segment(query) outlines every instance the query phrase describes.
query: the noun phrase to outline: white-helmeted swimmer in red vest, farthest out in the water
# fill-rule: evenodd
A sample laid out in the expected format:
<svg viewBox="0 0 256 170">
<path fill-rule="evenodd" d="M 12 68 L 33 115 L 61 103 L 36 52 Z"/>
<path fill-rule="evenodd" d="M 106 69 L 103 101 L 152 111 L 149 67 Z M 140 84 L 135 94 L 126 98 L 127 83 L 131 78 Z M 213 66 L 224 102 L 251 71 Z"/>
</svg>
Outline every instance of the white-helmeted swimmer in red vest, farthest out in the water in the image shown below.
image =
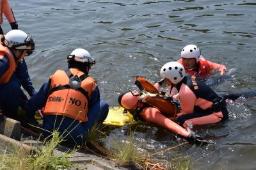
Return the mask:
<svg viewBox="0 0 256 170">
<path fill-rule="evenodd" d="M 220 75 L 225 75 L 227 68 L 225 65 L 213 63 L 206 60 L 202 55 L 200 49 L 193 44 L 186 45 L 180 52 L 180 59 L 177 61 L 184 66 L 185 73 L 195 75 L 203 81 L 209 78 L 212 70 L 220 71 Z M 163 83 L 163 79 L 155 84 L 159 88 Z"/>
</svg>

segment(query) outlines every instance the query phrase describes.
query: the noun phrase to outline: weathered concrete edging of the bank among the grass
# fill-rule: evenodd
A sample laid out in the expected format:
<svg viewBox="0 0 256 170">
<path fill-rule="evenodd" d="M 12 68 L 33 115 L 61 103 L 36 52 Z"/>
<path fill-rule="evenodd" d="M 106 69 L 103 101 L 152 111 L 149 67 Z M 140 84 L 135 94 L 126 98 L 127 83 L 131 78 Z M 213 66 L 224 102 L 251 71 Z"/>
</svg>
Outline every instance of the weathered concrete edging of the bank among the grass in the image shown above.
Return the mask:
<svg viewBox="0 0 256 170">
<path fill-rule="evenodd" d="M 22 134 L 20 127 L 20 122 L 4 117 L 3 121 L 0 121 L 0 154 L 3 154 L 6 151 L 6 148 L 12 149 L 17 147 L 22 147 L 24 151 L 32 151 L 33 144 L 36 141 L 28 135 Z M 54 151 L 54 154 L 61 155 L 63 152 L 72 150 L 67 146 L 61 146 L 58 150 Z M 70 161 L 74 164 L 72 169 L 113 169 L 120 170 L 125 169 L 123 167 L 115 166 L 115 162 L 111 162 L 101 157 L 97 157 L 88 153 L 85 150 L 78 150 L 72 155 Z"/>
</svg>

